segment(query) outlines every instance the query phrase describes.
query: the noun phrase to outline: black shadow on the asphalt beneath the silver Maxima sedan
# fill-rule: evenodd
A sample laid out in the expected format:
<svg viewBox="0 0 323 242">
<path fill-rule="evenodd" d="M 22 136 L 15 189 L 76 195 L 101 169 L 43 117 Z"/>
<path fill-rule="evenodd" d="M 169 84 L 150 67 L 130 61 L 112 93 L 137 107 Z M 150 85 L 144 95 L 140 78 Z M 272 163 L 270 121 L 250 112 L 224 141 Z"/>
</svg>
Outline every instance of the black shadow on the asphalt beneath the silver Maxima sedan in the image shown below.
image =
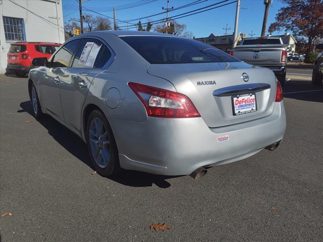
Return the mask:
<svg viewBox="0 0 323 242">
<path fill-rule="evenodd" d="M 20 103 L 20 107 L 22 110 L 18 110 L 17 112 L 27 112 L 33 116 L 30 101 Z M 60 145 L 62 145 L 72 155 L 94 170 L 87 151 L 87 146 L 80 137 L 78 137 L 68 128 L 61 125 L 57 120 L 49 115 L 43 115 L 37 121 Z M 155 184 L 159 188 L 169 188 L 171 187 L 171 184 L 168 183 L 166 179 L 175 177 L 177 176 L 163 176 L 139 171 L 122 170 L 118 176 L 109 177 L 109 179 L 130 187 L 151 187 L 153 184 Z"/>
</svg>

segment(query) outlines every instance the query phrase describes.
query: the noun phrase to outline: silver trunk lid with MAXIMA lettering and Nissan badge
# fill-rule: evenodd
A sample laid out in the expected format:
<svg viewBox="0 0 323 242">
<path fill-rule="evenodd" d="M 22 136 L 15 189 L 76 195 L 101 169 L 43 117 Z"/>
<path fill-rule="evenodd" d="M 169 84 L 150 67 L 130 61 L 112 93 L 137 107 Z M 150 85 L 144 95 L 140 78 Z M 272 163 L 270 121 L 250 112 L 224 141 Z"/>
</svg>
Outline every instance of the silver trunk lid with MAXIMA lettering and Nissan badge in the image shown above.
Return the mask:
<svg viewBox="0 0 323 242">
<path fill-rule="evenodd" d="M 150 65 L 147 72 L 170 81 L 188 96 L 210 128 L 248 122 L 269 115 L 274 108 L 276 78 L 265 68 L 242 62 L 163 64 Z M 237 97 L 255 98 L 257 110 L 235 115 Z"/>
</svg>

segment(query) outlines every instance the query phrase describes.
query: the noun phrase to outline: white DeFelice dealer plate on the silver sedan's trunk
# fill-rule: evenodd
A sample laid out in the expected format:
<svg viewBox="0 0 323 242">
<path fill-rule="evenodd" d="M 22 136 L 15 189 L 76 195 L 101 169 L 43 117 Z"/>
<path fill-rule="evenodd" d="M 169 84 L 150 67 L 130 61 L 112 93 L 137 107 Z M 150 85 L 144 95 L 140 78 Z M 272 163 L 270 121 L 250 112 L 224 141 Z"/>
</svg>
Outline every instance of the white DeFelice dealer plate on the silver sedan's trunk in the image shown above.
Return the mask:
<svg viewBox="0 0 323 242">
<path fill-rule="evenodd" d="M 247 93 L 232 96 L 233 115 L 241 115 L 257 111 L 256 94 Z"/>
</svg>

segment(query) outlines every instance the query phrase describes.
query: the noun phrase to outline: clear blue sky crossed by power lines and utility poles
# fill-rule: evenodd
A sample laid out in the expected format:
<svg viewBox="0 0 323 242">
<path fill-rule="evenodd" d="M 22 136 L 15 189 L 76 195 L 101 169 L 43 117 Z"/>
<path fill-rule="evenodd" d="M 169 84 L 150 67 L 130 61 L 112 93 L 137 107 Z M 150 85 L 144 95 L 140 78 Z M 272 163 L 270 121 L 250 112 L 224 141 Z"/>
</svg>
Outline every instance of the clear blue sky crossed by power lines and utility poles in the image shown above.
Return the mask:
<svg viewBox="0 0 323 242">
<path fill-rule="evenodd" d="M 180 6 L 193 3 L 196 0 L 170 0 L 170 7 L 178 8 Z M 158 1 L 148 1 L 150 3 L 144 4 L 142 6 L 138 6 L 135 8 L 128 9 L 120 9 L 118 10 L 118 6 L 127 5 L 127 4 L 135 4 L 135 3 L 144 3 L 139 0 L 129 1 L 129 0 L 88 0 L 82 3 L 83 6 L 83 14 L 90 13 L 96 15 L 95 13 L 91 13 L 86 11 L 85 9 L 91 9 L 95 12 L 113 17 L 113 11 L 110 8 L 116 7 L 116 18 L 119 20 L 130 20 L 141 18 L 149 15 L 153 15 L 156 13 L 161 13 L 162 7 L 167 6 L 166 0 L 158 0 Z M 146 0 L 147 2 L 147 0 Z M 202 2 L 202 1 L 201 1 Z M 182 14 L 185 12 L 189 12 L 195 9 L 199 9 L 211 4 L 216 4 L 221 2 L 220 0 L 208 0 L 202 3 L 196 4 L 194 6 L 190 6 L 187 8 L 183 8 L 180 10 L 176 10 L 169 13 L 169 17 L 174 15 Z M 226 3 L 233 2 L 230 0 Z M 283 7 L 284 4 L 279 0 L 274 0 L 273 4 L 270 7 L 270 12 L 268 16 L 267 28 L 272 23 L 275 22 L 275 16 L 278 13 L 278 10 Z M 214 6 L 216 7 L 216 6 Z M 119 7 L 120 8 L 120 7 Z M 177 21 L 181 24 L 186 24 L 187 30 L 193 33 L 193 36 L 198 37 L 206 37 L 210 33 L 214 35 L 223 35 L 225 30 L 223 28 L 231 27 L 231 30 L 228 30 L 228 33 L 232 33 L 234 29 L 235 22 L 235 13 L 236 13 L 236 3 L 233 3 L 228 6 L 224 6 L 218 9 L 213 9 L 210 11 L 206 11 L 200 14 L 192 15 L 189 17 L 178 19 Z M 238 32 L 250 34 L 251 31 L 255 33 L 255 37 L 260 36 L 262 20 L 264 14 L 264 4 L 263 0 L 241 0 L 241 9 L 240 9 L 240 18 L 239 18 L 239 26 Z M 70 18 L 79 18 L 78 11 L 78 1 L 77 0 L 63 0 L 63 15 L 64 22 L 68 22 Z M 166 18 L 166 14 L 158 15 L 154 17 L 148 18 L 148 20 L 159 20 L 162 18 Z M 141 20 L 141 22 L 146 22 L 147 19 Z M 113 21 L 112 21 L 113 22 Z M 138 21 L 134 21 L 131 23 L 137 23 Z M 126 26 L 126 23 L 118 23 L 119 26 Z M 283 34 L 284 32 L 281 32 Z M 279 32 L 275 32 L 274 34 L 279 34 Z M 248 36 L 250 37 L 250 36 Z"/>
</svg>

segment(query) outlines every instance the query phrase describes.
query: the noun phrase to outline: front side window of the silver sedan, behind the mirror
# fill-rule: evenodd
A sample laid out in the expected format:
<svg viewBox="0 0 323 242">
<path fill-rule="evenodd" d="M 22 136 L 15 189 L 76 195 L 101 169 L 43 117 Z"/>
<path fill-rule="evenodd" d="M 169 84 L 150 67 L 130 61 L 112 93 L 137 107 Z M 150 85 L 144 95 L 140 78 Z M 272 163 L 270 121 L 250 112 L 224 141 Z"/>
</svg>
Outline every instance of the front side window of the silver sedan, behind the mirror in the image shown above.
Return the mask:
<svg viewBox="0 0 323 242">
<path fill-rule="evenodd" d="M 79 43 L 80 39 L 76 39 L 65 44 L 52 58 L 51 67 L 68 67 L 72 55 Z"/>
</svg>

